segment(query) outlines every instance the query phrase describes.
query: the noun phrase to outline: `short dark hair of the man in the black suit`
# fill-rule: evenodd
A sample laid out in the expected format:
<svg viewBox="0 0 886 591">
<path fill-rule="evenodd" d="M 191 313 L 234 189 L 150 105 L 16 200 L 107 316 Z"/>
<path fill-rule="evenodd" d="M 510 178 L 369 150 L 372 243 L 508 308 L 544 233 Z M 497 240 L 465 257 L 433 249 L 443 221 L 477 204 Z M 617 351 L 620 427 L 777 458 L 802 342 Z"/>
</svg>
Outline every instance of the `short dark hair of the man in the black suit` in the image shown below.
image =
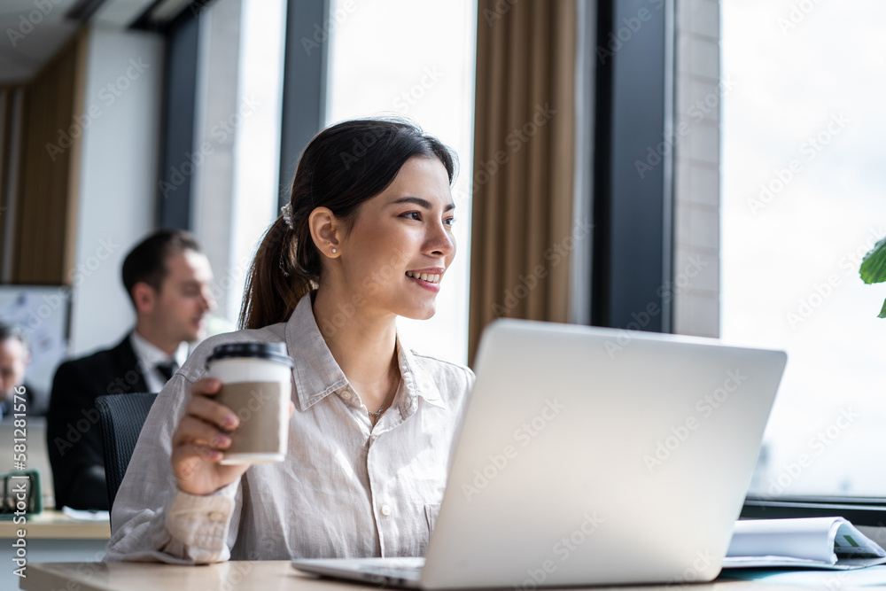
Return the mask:
<svg viewBox="0 0 886 591">
<path fill-rule="evenodd" d="M 183 229 L 158 229 L 129 251 L 123 260 L 123 286 L 134 306 L 132 288 L 144 282 L 159 292 L 169 274 L 167 258 L 184 251 L 202 252 L 197 240 Z"/>
</svg>

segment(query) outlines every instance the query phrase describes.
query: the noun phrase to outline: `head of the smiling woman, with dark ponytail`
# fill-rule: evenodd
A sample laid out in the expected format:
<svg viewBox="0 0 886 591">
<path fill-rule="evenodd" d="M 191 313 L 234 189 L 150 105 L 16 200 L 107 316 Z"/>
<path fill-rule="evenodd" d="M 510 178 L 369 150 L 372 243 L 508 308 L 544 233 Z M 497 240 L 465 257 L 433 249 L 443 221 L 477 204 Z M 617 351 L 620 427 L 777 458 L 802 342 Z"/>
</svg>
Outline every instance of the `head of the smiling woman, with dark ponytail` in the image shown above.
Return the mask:
<svg viewBox="0 0 886 591">
<path fill-rule="evenodd" d="M 323 131 L 299 161 L 284 208 L 289 224 L 278 218 L 256 254 L 241 327 L 285 320 L 299 299 L 318 287 L 322 301 L 326 292 L 340 299 L 347 289 L 352 299 L 385 299 L 386 306 L 396 308 L 406 271 L 433 267 L 442 274 L 452 262 L 454 177 L 454 155 L 405 121 L 346 121 Z M 423 245 L 431 251 L 407 252 Z M 403 284 L 392 281 L 395 270 Z M 325 289 L 323 272 L 329 275 Z M 336 305 L 346 303 L 354 305 Z M 402 308 L 396 314 L 429 318 L 432 299 L 427 305 L 429 315 Z"/>
</svg>

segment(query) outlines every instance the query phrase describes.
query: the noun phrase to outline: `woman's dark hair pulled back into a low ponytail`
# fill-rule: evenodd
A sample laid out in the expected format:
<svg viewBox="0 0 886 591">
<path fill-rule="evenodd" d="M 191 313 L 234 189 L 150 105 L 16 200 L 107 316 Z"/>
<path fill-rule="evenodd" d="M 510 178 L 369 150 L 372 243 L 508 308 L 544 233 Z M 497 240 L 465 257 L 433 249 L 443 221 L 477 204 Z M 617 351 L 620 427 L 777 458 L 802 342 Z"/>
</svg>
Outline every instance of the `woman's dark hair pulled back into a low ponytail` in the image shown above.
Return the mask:
<svg viewBox="0 0 886 591">
<path fill-rule="evenodd" d="M 246 278 L 240 328 L 285 322 L 299 299 L 319 286 L 321 257 L 308 226 L 316 207 L 329 207 L 347 231 L 358 207 L 385 191 L 415 156 L 439 159 L 452 183 L 455 153 L 408 121 L 344 121 L 314 136 L 292 180 L 292 229 L 282 216 L 277 218 L 255 253 Z"/>
</svg>

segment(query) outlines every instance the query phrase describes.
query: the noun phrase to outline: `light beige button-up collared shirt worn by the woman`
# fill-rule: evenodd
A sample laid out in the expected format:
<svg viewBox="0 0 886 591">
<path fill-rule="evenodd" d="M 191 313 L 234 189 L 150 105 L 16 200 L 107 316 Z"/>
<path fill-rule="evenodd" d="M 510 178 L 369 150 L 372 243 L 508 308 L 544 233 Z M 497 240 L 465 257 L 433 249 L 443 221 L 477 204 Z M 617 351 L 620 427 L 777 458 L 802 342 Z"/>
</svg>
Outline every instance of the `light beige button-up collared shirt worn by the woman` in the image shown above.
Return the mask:
<svg viewBox="0 0 886 591">
<path fill-rule="evenodd" d="M 190 385 L 215 346 L 242 341 L 285 342 L 295 364 L 286 459 L 254 464 L 214 494 L 178 491 L 169 457 Z M 113 504 L 107 559 L 424 556 L 474 375 L 416 354 L 399 334 L 397 342 L 400 386 L 373 425 L 317 328 L 310 295 L 287 323 L 207 338 L 144 424 Z"/>
</svg>

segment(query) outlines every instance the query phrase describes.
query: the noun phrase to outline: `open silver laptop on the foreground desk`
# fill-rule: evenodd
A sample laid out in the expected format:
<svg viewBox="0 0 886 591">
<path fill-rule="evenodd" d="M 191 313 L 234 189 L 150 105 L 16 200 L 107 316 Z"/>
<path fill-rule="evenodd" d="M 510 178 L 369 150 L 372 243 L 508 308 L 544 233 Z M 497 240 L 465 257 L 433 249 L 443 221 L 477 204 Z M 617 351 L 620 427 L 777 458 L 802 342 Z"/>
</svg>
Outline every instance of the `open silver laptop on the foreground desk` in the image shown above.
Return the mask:
<svg viewBox="0 0 886 591">
<path fill-rule="evenodd" d="M 786 362 L 714 339 L 496 321 L 425 557 L 292 565 L 424 589 L 714 579 Z"/>
</svg>

